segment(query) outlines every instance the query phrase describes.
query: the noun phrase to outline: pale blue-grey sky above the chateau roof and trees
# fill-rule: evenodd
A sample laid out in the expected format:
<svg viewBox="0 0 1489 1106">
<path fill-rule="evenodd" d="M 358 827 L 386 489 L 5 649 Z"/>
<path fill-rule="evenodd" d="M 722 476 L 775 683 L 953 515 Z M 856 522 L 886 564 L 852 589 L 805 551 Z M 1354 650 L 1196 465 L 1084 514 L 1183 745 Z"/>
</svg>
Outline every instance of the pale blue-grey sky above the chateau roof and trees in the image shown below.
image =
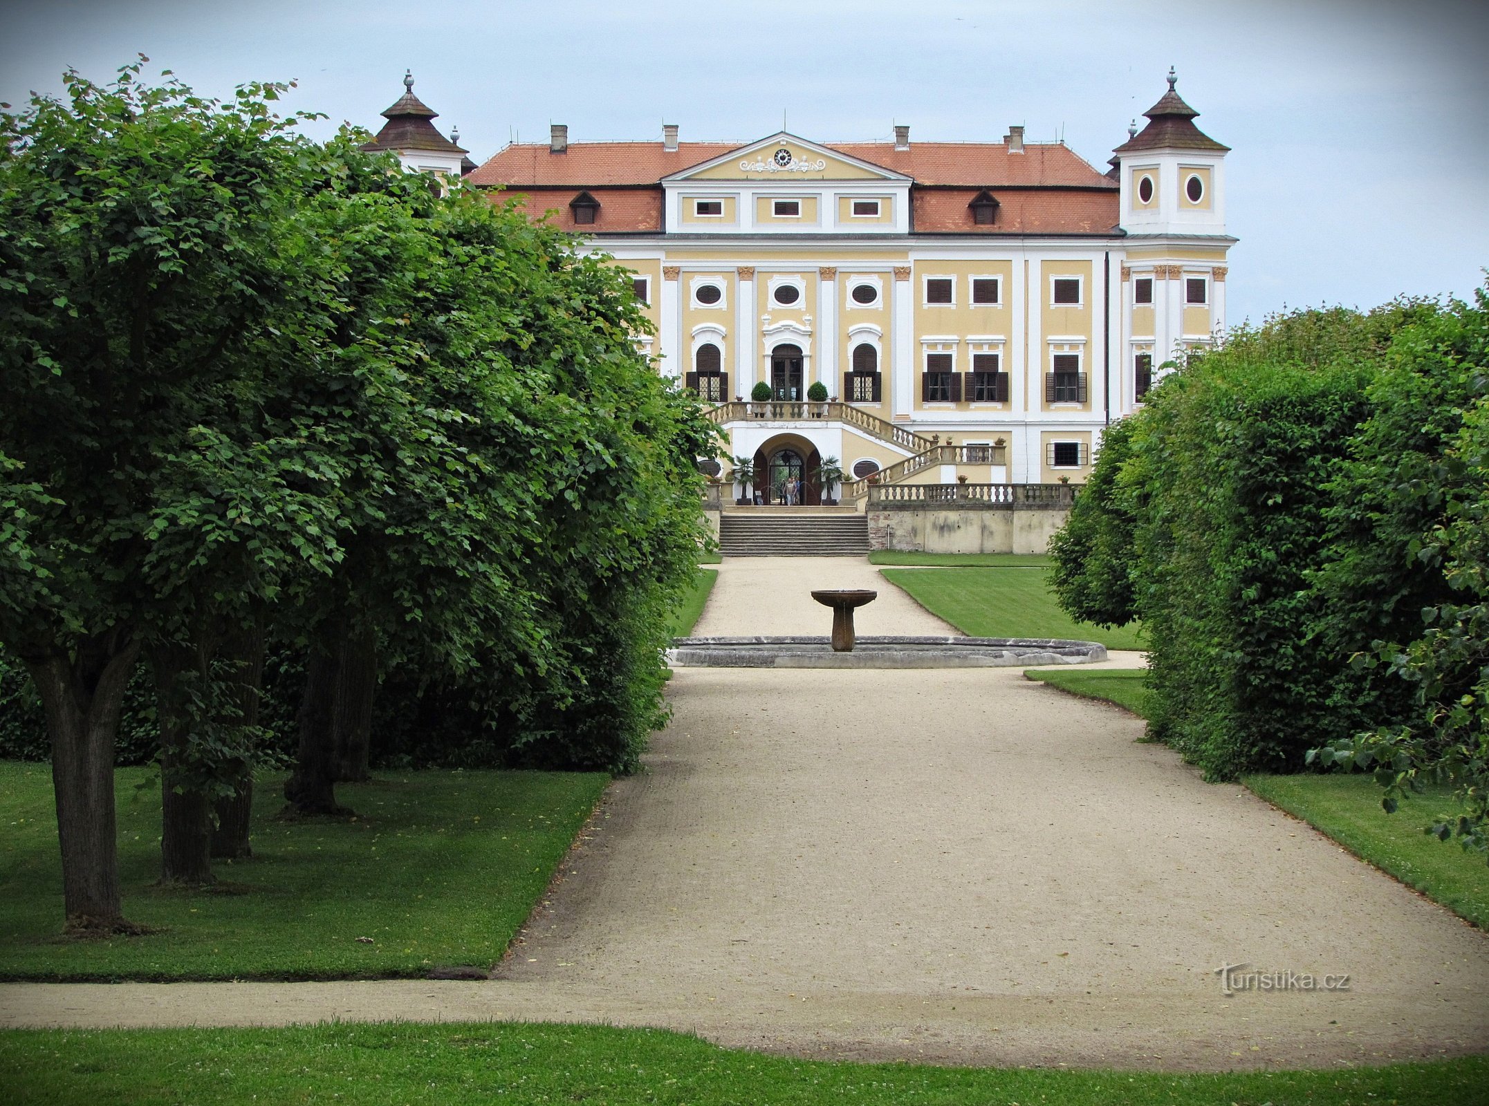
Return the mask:
<svg viewBox="0 0 1489 1106">
<path fill-rule="evenodd" d="M 1227 156 L 1231 322 L 1284 305 L 1471 295 L 1489 265 L 1482 0 L 10 0 L 0 100 L 135 54 L 222 95 L 377 130 L 417 92 L 479 162 L 549 122 L 573 141 L 996 141 L 1063 135 L 1105 170 L 1169 65 Z M 328 124 L 329 127 L 331 124 Z"/>
</svg>

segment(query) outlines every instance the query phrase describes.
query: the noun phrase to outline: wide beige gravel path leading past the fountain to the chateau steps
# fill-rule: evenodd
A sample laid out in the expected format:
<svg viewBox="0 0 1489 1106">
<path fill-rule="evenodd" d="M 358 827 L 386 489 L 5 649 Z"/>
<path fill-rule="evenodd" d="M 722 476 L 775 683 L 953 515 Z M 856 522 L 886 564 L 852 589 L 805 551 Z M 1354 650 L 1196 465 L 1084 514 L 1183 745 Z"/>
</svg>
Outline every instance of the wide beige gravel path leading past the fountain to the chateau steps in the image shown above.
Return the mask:
<svg viewBox="0 0 1489 1106">
<path fill-rule="evenodd" d="M 750 600 L 759 582 L 791 592 Z M 715 594 L 698 633 L 813 628 L 780 609 L 801 594 L 786 569 L 731 561 Z M 670 695 L 648 771 L 612 787 L 494 981 L 10 985 L 0 1024 L 585 1020 L 1163 1069 L 1489 1048 L 1485 933 L 1200 781 L 1120 710 L 998 668 L 691 668 Z M 1349 990 L 1227 997 L 1224 963 Z"/>
</svg>

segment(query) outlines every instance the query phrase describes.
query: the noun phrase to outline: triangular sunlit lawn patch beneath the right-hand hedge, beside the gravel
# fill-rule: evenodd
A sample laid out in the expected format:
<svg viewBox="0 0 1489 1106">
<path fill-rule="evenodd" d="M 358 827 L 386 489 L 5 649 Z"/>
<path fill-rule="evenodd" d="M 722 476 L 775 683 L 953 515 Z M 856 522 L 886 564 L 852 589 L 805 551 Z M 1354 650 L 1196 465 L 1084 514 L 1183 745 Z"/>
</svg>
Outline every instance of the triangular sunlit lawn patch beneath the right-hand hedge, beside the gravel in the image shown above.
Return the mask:
<svg viewBox="0 0 1489 1106">
<path fill-rule="evenodd" d="M 1465 853 L 1456 841 L 1422 832 L 1453 808 L 1446 789 L 1413 795 L 1395 814 L 1386 814 L 1380 784 L 1368 776 L 1246 776 L 1243 781 L 1359 859 L 1489 929 L 1489 865 L 1483 853 Z"/>
</svg>

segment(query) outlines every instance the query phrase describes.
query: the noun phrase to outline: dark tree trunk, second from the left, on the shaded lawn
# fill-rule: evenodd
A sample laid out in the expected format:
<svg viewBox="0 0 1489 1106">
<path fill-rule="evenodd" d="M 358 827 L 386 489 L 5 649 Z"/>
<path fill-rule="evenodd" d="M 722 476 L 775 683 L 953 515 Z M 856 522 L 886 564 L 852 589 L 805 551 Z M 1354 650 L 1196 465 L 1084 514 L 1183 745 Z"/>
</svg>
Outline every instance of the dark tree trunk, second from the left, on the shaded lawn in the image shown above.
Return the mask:
<svg viewBox="0 0 1489 1106">
<path fill-rule="evenodd" d="M 161 723 L 161 883 L 211 883 L 211 802 L 191 765 L 185 680 L 203 674 L 192 649 L 150 651 Z"/>
</svg>

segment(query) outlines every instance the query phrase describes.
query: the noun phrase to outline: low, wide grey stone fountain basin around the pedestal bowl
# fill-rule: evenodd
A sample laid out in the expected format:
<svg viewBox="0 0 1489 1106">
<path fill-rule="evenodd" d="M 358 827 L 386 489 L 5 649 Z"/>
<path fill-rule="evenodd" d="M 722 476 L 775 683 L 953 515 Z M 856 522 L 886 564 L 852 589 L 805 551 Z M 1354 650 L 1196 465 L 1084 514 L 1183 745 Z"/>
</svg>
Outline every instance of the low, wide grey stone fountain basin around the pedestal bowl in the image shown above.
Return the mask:
<svg viewBox="0 0 1489 1106">
<path fill-rule="evenodd" d="M 1094 664 L 1106 646 L 1059 637 L 859 637 L 834 652 L 829 637 L 679 637 L 675 668 L 1032 668 Z"/>
</svg>

